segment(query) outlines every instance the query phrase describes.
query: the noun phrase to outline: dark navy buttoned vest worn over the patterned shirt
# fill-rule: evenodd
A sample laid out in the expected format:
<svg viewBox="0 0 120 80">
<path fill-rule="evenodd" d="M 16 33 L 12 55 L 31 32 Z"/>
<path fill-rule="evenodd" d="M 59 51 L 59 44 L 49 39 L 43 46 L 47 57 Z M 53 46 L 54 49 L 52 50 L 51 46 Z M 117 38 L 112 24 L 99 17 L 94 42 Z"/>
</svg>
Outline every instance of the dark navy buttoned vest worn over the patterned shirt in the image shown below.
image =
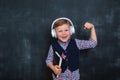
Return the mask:
<svg viewBox="0 0 120 80">
<path fill-rule="evenodd" d="M 64 72 L 67 68 L 72 72 L 79 68 L 79 49 L 77 48 L 76 42 L 74 39 L 71 39 L 68 47 L 66 50 L 64 50 L 58 42 L 55 42 L 52 44 L 52 48 L 54 51 L 54 58 L 53 58 L 53 64 L 56 65 L 59 63 L 59 58 L 55 54 L 55 51 L 57 51 L 60 55 L 63 54 L 65 56 L 64 59 L 62 59 L 62 72 Z"/>
</svg>

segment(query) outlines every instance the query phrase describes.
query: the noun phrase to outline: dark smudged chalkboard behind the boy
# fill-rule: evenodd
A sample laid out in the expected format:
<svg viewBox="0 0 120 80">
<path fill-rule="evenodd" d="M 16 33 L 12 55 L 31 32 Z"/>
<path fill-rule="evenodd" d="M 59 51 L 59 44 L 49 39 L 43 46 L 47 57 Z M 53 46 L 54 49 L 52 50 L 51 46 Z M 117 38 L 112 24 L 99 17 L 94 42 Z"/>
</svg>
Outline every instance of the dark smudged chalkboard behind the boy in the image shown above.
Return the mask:
<svg viewBox="0 0 120 80">
<path fill-rule="evenodd" d="M 119 0 L 0 0 L 0 80 L 52 80 L 45 59 L 54 40 L 52 21 L 72 20 L 76 34 L 88 21 L 95 25 L 98 45 L 81 51 L 81 80 L 120 80 Z"/>
</svg>

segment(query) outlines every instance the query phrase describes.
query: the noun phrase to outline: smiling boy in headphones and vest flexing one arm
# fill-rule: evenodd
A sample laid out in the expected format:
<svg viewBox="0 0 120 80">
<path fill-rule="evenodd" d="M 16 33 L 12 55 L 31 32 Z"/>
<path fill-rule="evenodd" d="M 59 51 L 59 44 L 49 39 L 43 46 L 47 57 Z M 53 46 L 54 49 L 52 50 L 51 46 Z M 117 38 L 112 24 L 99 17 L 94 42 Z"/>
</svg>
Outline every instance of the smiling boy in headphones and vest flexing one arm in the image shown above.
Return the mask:
<svg viewBox="0 0 120 80">
<path fill-rule="evenodd" d="M 47 66 L 53 71 L 54 80 L 79 80 L 79 53 L 82 49 L 94 48 L 97 37 L 94 25 L 86 22 L 84 29 L 90 30 L 89 40 L 71 38 L 75 33 L 74 25 L 68 18 L 57 18 L 51 26 L 52 37 L 57 41 L 50 45 L 46 59 Z M 57 63 L 56 52 L 62 57 L 61 66 Z M 58 75 L 58 76 L 56 76 Z"/>
</svg>

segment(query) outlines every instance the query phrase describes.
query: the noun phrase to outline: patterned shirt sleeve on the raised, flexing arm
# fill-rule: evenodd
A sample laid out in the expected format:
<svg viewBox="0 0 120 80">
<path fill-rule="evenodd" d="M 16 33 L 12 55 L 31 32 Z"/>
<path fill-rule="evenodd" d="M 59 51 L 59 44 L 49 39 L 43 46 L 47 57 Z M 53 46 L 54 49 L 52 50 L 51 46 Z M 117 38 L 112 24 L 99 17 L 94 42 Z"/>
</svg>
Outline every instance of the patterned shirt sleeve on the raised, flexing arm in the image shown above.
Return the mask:
<svg viewBox="0 0 120 80">
<path fill-rule="evenodd" d="M 91 38 L 89 40 L 75 39 L 75 41 L 78 49 L 80 50 L 94 48 L 97 45 L 97 42 Z"/>
</svg>

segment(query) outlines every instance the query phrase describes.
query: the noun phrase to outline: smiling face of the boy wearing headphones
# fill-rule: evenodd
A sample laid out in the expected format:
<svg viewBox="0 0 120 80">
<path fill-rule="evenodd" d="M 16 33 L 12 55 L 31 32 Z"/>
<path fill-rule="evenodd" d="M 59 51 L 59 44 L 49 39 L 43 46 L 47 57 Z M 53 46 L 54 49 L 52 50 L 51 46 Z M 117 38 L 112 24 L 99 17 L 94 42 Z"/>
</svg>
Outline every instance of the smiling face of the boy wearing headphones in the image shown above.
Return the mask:
<svg viewBox="0 0 120 80">
<path fill-rule="evenodd" d="M 55 28 L 55 31 L 57 38 L 62 42 L 67 42 L 71 37 L 69 24 L 58 26 Z"/>
</svg>

